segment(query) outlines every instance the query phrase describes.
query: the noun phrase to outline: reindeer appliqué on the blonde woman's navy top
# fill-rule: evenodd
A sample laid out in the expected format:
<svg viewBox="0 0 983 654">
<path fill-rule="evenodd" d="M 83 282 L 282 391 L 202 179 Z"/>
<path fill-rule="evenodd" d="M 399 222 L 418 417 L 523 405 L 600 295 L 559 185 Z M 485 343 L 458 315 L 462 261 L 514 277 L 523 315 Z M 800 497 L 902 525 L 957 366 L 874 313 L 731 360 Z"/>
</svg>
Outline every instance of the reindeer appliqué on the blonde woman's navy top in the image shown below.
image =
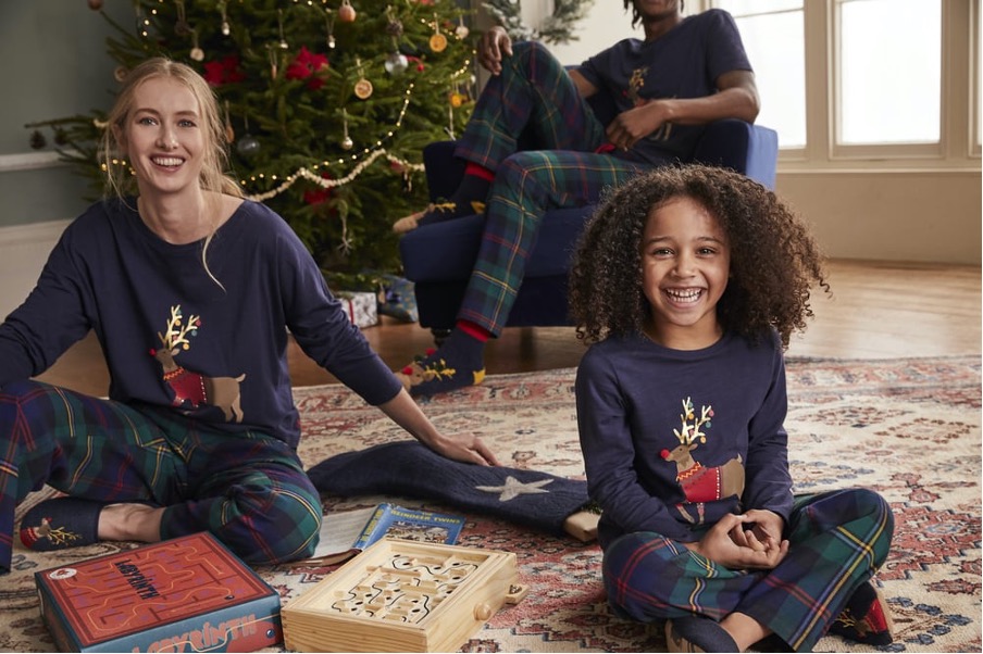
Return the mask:
<svg viewBox="0 0 983 654">
<path fill-rule="evenodd" d="M 187 404 L 191 408 L 198 408 L 202 404 L 217 406 L 226 420 L 235 418 L 236 423 L 241 423 L 239 382 L 246 378 L 245 373 L 238 377 L 206 377 L 184 368 L 174 361 L 182 350 L 190 349 L 191 342 L 188 339 L 198 334 L 199 327 L 201 327 L 200 316 L 192 314 L 185 323 L 181 305 L 172 306 L 167 330 L 164 334 L 157 332 L 163 348 L 150 350 L 150 355 L 157 359 L 163 368 L 164 381 L 174 391 L 171 405 Z"/>
</svg>

